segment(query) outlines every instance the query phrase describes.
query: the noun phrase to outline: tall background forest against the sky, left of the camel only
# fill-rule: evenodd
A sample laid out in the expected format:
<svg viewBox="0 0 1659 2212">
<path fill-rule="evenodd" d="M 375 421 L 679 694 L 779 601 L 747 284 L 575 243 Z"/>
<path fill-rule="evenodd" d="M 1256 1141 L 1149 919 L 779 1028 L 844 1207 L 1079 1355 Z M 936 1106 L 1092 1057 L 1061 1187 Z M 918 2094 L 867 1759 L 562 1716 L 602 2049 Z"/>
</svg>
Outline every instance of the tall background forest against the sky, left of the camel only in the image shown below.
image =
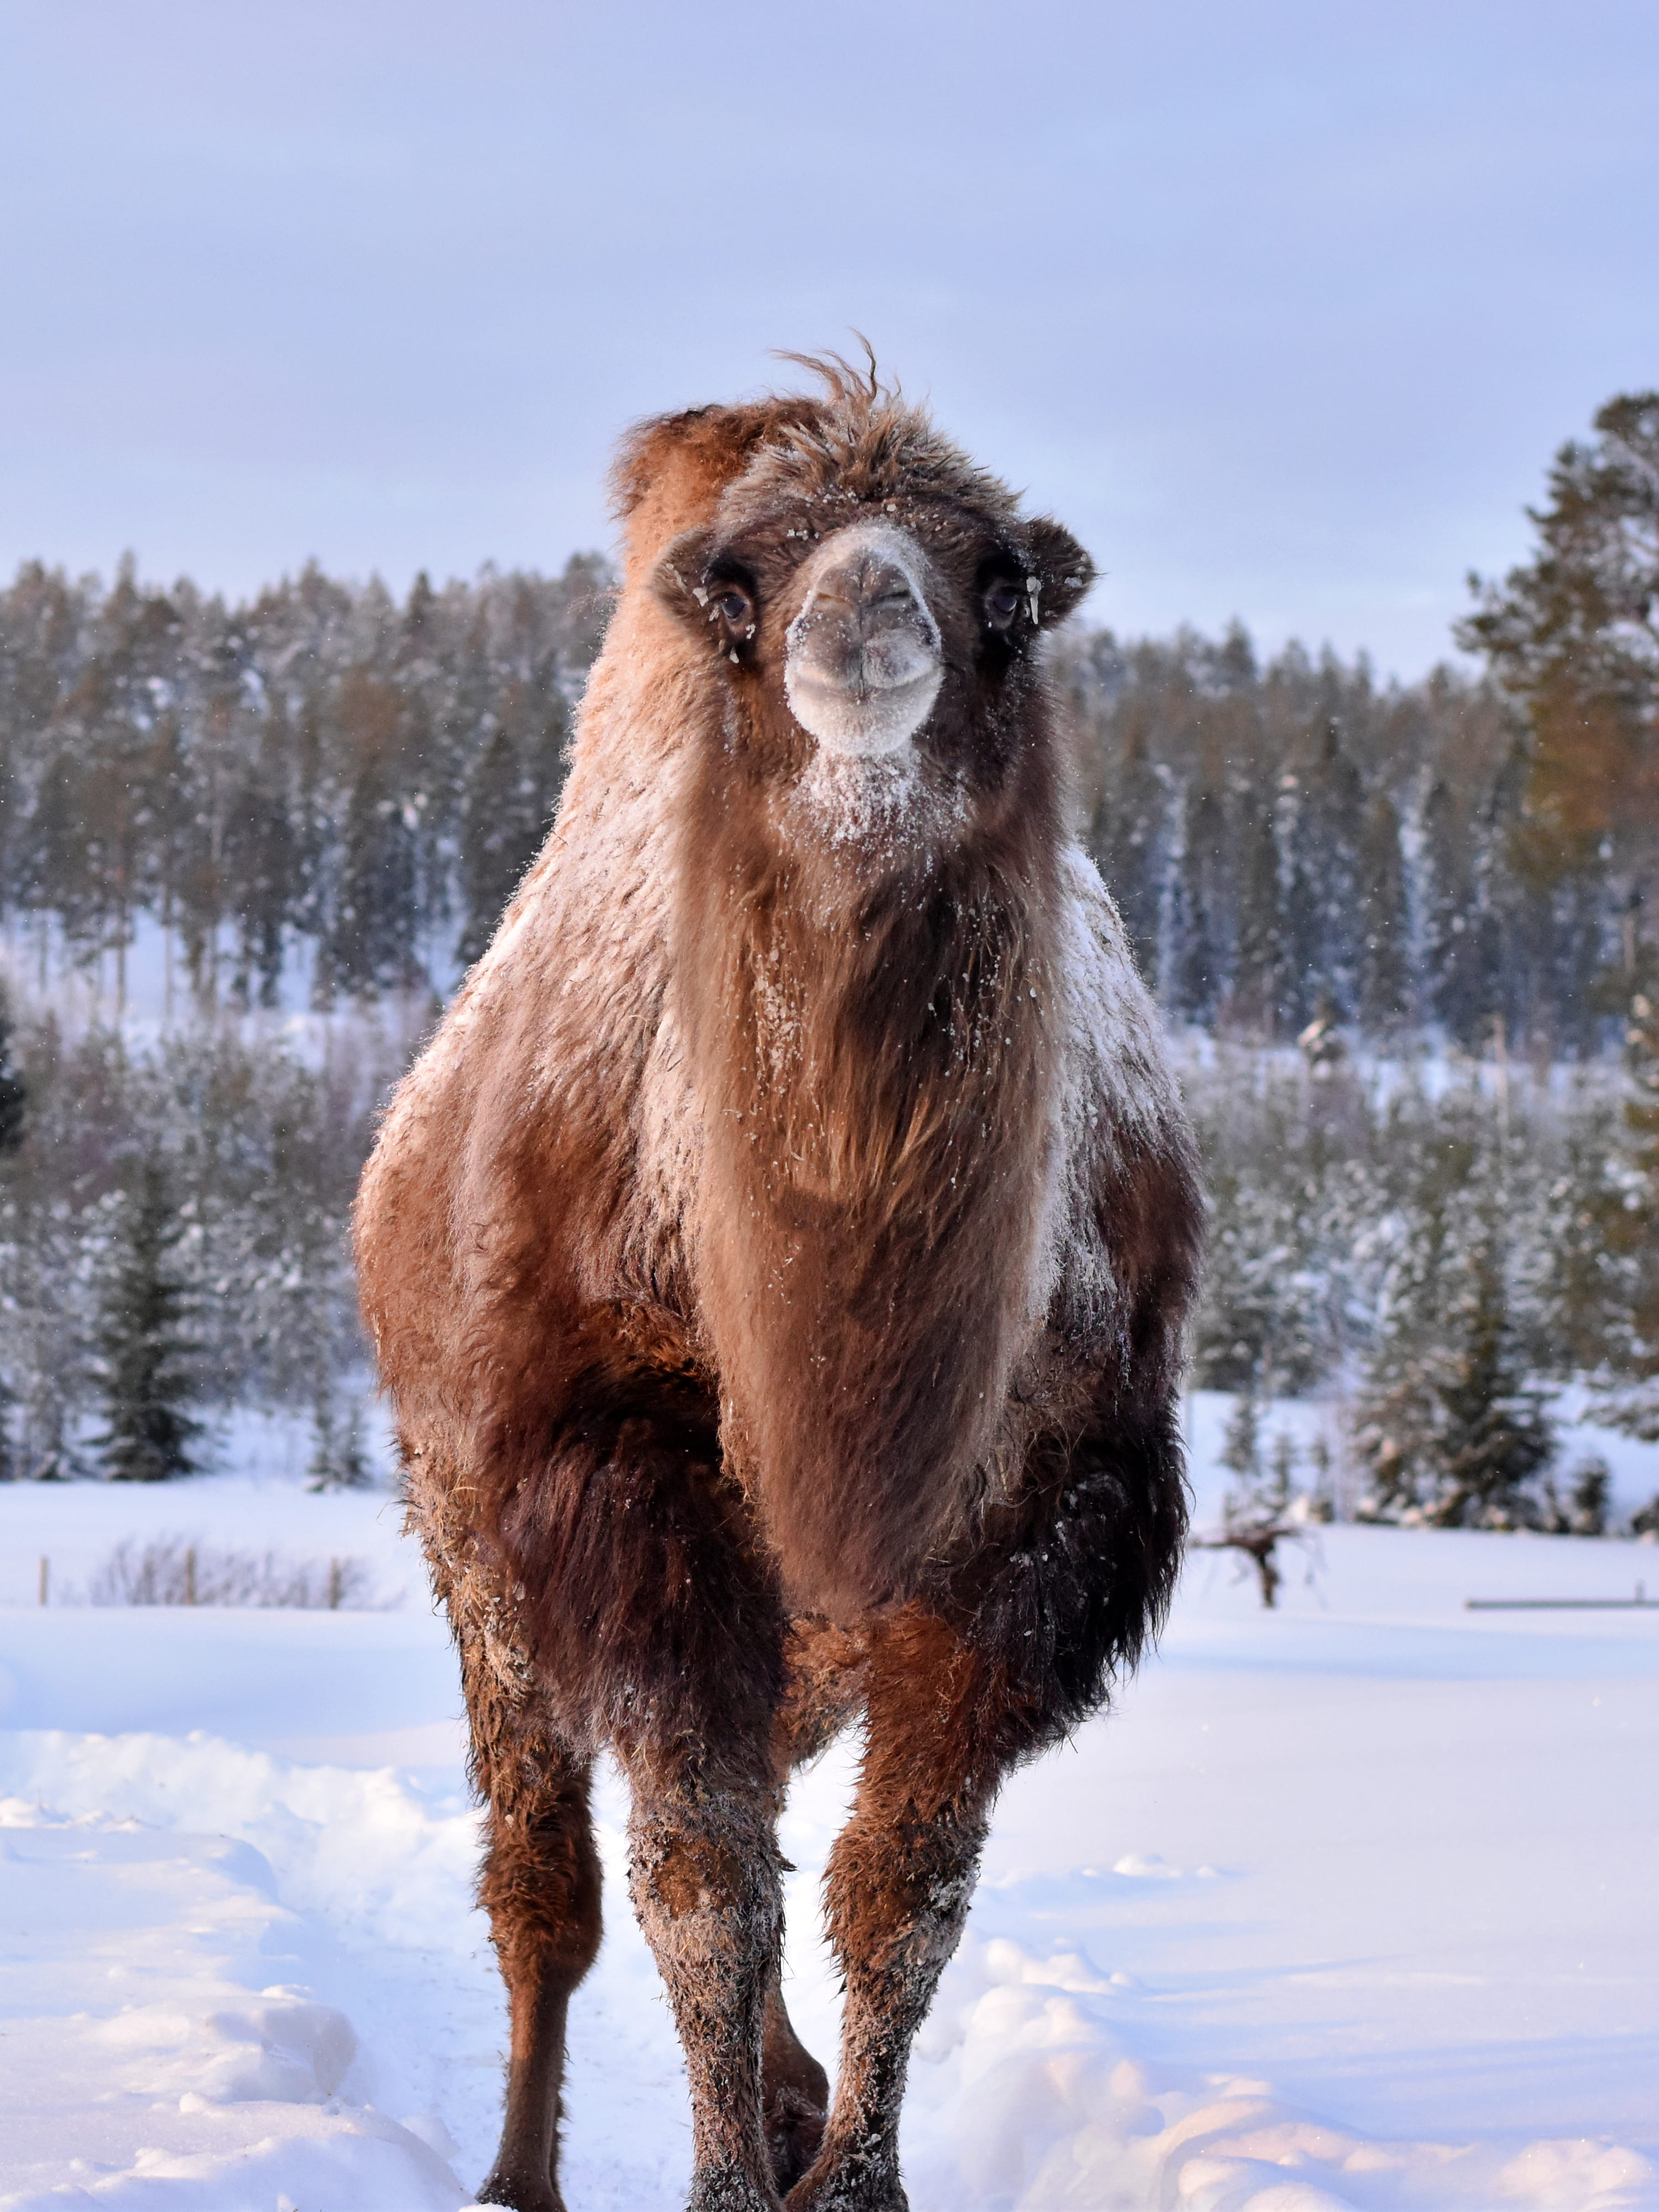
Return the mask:
<svg viewBox="0 0 1659 2212">
<path fill-rule="evenodd" d="M 608 571 L 243 606 L 29 564 L 0 593 L 0 922 L 40 980 L 142 916 L 199 1009 L 447 989 L 546 834 Z"/>
</svg>

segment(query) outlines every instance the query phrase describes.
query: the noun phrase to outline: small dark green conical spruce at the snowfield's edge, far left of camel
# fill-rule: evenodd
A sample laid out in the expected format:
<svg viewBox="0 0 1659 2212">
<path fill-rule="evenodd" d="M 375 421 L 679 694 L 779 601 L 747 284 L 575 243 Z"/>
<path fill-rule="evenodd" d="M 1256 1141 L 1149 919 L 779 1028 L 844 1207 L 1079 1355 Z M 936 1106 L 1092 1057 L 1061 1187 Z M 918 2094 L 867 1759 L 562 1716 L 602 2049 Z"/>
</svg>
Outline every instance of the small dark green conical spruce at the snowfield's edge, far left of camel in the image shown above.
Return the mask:
<svg viewBox="0 0 1659 2212">
<path fill-rule="evenodd" d="M 95 1440 L 111 1482 L 166 1482 L 195 1473 L 201 1425 L 195 1396 L 188 1292 L 177 1261 L 179 1221 L 166 1168 L 148 1155 L 117 1214 L 97 1352 L 104 1433 Z"/>
</svg>

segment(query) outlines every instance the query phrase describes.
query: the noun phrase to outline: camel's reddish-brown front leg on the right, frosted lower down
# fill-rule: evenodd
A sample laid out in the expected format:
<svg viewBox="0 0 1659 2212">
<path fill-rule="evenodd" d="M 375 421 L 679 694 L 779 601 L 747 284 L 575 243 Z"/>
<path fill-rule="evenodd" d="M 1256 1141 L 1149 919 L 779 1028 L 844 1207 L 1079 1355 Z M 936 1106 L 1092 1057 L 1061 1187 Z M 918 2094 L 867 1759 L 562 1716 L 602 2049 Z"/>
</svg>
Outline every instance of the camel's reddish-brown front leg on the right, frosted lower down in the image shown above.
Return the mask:
<svg viewBox="0 0 1659 2212">
<path fill-rule="evenodd" d="M 847 1991 L 841 2075 L 790 2212 L 905 2212 L 909 2046 L 960 1942 L 1000 1781 L 980 1668 L 945 1621 L 900 1615 L 878 1637 L 867 1681 L 858 1796 L 825 1871 Z"/>
</svg>

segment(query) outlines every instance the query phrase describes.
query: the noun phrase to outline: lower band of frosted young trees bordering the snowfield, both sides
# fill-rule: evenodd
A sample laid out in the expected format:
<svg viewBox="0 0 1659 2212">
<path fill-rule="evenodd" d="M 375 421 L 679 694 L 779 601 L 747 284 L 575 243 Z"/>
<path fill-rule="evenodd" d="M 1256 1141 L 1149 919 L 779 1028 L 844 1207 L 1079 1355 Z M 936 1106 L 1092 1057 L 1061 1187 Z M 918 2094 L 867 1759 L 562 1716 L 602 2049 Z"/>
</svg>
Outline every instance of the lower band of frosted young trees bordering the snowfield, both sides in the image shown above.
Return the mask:
<svg viewBox="0 0 1659 2212">
<path fill-rule="evenodd" d="M 0 1478 L 186 1473 L 201 1416 L 254 1405 L 310 1418 L 316 1480 L 363 1480 L 347 1217 L 405 1040 L 361 1009 L 312 1040 L 221 1020 L 139 1048 L 0 1000 Z M 1553 1383 L 1659 1440 L 1646 995 L 1621 1064 L 1314 1024 L 1287 1053 L 1190 1040 L 1183 1084 L 1212 1208 L 1192 1380 L 1338 1387 L 1360 1513 L 1566 1526 Z"/>
</svg>

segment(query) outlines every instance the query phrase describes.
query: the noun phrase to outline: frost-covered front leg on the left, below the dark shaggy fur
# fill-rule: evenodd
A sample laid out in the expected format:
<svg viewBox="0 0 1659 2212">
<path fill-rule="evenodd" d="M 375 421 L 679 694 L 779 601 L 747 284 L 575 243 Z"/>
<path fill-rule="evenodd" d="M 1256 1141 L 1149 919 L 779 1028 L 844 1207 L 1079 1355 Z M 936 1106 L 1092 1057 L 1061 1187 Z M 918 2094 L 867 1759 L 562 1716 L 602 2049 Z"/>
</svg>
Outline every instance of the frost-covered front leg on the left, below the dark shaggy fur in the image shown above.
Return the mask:
<svg viewBox="0 0 1659 2212">
<path fill-rule="evenodd" d="M 776 2212 L 761 2044 L 783 1947 L 783 1882 L 765 1756 L 745 1774 L 619 1750 L 633 1785 L 628 1889 L 686 2051 L 688 2212 Z"/>
</svg>

